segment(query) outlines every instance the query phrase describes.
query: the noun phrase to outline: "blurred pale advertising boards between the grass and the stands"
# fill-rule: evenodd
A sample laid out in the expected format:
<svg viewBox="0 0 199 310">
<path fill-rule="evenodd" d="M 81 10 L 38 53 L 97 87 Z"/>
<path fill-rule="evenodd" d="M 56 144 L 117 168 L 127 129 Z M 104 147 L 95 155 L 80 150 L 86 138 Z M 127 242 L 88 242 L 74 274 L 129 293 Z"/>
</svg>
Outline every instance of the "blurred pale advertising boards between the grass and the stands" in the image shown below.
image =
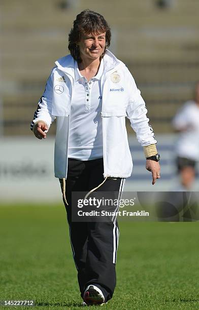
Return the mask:
<svg viewBox="0 0 199 310">
<path fill-rule="evenodd" d="M 161 154 L 161 180 L 151 184 L 151 173 L 145 169 L 142 147 L 135 137 L 129 137 L 134 161 L 126 191 L 177 190 L 178 180 L 174 162 L 176 135 L 156 135 Z M 38 140 L 32 137 L 5 138 L 0 140 L 0 204 L 8 203 L 61 203 L 59 181 L 54 177 L 54 139 Z M 198 187 L 198 178 L 195 190 Z"/>
</svg>

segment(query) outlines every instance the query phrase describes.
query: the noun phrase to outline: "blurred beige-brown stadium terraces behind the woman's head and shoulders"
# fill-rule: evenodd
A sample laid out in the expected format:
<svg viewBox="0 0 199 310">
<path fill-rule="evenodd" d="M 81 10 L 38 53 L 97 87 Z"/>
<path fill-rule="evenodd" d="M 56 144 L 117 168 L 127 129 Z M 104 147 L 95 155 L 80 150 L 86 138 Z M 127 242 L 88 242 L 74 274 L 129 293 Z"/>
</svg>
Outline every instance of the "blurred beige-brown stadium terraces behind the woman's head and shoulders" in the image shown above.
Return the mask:
<svg viewBox="0 0 199 310">
<path fill-rule="evenodd" d="M 71 5 L 71 4 L 74 5 Z M 147 2 L 58 0 L 1 1 L 3 132 L 29 135 L 29 122 L 54 61 L 67 54 L 68 32 L 78 12 L 102 13 L 113 30 L 112 48 L 134 74 L 156 133 L 170 133 L 179 106 L 198 80 L 199 3 L 175 1 L 159 10 Z M 50 134 L 54 133 L 54 127 Z"/>
</svg>

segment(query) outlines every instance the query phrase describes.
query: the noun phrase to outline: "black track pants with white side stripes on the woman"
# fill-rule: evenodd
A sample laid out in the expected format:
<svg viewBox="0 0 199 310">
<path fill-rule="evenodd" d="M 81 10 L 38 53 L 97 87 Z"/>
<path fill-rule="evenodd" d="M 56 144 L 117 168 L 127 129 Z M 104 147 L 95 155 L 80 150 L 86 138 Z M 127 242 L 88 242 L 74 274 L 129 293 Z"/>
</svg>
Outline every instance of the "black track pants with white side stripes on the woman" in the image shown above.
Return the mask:
<svg viewBox="0 0 199 310">
<path fill-rule="evenodd" d="M 71 246 L 78 270 L 81 296 L 89 284 L 98 286 L 105 300 L 113 296 L 116 285 L 115 263 L 119 240 L 117 221 L 73 222 L 72 192 L 89 191 L 104 181 L 103 159 L 78 161 L 69 159 L 65 205 L 70 228 Z M 60 182 L 62 182 L 60 180 Z M 107 179 L 97 191 L 122 192 L 125 179 Z M 118 196 L 119 197 L 119 196 Z M 115 209 L 115 206 L 113 206 Z M 112 211 L 115 211 L 115 210 Z"/>
</svg>

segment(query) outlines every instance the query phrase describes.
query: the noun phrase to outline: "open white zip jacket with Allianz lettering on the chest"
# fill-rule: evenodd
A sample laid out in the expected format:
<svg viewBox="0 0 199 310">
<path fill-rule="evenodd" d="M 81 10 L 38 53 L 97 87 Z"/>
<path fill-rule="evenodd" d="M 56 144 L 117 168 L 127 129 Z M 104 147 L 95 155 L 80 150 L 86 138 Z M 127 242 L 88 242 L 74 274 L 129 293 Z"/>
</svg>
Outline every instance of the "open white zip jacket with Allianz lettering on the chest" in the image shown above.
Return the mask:
<svg viewBox="0 0 199 310">
<path fill-rule="evenodd" d="M 102 87 L 104 177 L 126 178 L 132 172 L 132 159 L 128 146 L 125 117 L 130 120 L 142 146 L 155 144 L 145 102 L 127 67 L 110 51 L 104 56 Z M 31 123 L 43 120 L 50 127 L 56 118 L 54 152 L 55 177 L 67 178 L 70 108 L 75 76 L 71 55 L 55 62 L 46 89 Z M 88 124 L 89 130 L 89 124 Z"/>
</svg>

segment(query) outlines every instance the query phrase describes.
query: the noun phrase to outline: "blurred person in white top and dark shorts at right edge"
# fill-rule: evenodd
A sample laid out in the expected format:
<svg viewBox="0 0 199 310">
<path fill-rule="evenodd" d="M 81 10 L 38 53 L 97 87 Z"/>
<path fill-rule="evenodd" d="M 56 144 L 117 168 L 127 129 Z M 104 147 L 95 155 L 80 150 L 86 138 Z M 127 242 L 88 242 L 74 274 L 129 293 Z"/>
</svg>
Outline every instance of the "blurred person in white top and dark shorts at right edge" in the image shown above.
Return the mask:
<svg viewBox="0 0 199 310">
<path fill-rule="evenodd" d="M 199 160 L 199 83 L 196 83 L 194 100 L 187 101 L 175 115 L 173 127 L 179 132 L 176 162 L 180 173 L 180 190 L 189 191 Z"/>
</svg>

